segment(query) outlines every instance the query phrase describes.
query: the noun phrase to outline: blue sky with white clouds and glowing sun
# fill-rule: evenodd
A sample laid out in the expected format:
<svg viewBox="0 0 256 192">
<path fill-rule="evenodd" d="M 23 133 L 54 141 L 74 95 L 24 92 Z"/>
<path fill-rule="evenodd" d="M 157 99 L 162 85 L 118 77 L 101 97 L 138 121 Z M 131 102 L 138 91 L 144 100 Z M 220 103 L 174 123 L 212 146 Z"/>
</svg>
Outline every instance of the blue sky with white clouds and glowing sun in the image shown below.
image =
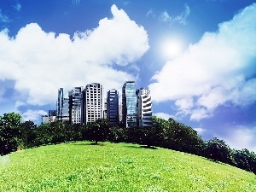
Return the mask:
<svg viewBox="0 0 256 192">
<path fill-rule="evenodd" d="M 0 1 L 0 115 L 134 80 L 154 115 L 256 152 L 255 20 L 255 0 Z"/>
</svg>

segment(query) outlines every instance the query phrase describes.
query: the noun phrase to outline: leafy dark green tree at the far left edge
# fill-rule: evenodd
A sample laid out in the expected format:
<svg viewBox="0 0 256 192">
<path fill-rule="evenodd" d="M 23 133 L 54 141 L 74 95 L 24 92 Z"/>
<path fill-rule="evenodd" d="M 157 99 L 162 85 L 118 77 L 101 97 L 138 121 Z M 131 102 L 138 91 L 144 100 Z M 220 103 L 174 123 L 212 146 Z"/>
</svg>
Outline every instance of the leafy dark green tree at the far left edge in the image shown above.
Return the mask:
<svg viewBox="0 0 256 192">
<path fill-rule="evenodd" d="M 20 124 L 19 113 L 4 113 L 0 116 L 0 154 L 9 154 L 23 145 Z"/>
</svg>

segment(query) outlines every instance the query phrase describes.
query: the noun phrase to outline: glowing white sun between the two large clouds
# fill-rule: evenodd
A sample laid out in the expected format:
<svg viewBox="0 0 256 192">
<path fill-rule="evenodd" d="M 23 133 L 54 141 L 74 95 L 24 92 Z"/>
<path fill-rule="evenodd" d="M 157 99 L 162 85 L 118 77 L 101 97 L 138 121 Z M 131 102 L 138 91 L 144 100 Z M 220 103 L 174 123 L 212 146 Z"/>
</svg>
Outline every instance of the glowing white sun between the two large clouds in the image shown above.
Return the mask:
<svg viewBox="0 0 256 192">
<path fill-rule="evenodd" d="M 161 53 L 166 59 L 174 59 L 183 50 L 183 44 L 179 39 L 169 38 L 161 43 Z"/>
</svg>

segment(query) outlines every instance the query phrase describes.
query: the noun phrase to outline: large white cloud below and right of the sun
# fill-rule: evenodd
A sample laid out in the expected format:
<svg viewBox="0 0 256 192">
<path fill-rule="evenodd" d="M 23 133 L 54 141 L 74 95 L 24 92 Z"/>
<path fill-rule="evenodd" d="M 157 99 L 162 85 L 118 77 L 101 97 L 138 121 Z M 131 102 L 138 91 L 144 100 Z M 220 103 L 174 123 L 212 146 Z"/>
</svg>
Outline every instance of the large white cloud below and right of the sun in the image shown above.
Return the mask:
<svg viewBox="0 0 256 192">
<path fill-rule="evenodd" d="M 256 101 L 256 3 L 241 10 L 218 32 L 206 32 L 197 44 L 167 61 L 149 84 L 155 102 L 174 100 L 177 115 L 208 118 L 219 105 Z"/>
</svg>

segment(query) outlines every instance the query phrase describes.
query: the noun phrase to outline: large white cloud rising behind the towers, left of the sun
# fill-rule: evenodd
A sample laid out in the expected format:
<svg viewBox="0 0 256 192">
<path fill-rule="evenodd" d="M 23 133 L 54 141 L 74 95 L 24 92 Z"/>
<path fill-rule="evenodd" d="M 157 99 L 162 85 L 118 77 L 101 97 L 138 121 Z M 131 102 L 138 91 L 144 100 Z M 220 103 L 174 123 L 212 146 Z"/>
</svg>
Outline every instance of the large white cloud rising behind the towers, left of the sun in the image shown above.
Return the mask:
<svg viewBox="0 0 256 192">
<path fill-rule="evenodd" d="M 0 80 L 15 80 L 18 105 L 54 103 L 59 87 L 98 82 L 105 90 L 120 89 L 125 80 L 135 79 L 137 74 L 115 67 L 134 65 L 149 49 L 148 34 L 124 10 L 113 5 L 111 12 L 113 18 L 75 32 L 73 38 L 44 32 L 37 23 L 24 26 L 15 37 L 9 37 L 8 29 L 0 32 Z"/>
</svg>

